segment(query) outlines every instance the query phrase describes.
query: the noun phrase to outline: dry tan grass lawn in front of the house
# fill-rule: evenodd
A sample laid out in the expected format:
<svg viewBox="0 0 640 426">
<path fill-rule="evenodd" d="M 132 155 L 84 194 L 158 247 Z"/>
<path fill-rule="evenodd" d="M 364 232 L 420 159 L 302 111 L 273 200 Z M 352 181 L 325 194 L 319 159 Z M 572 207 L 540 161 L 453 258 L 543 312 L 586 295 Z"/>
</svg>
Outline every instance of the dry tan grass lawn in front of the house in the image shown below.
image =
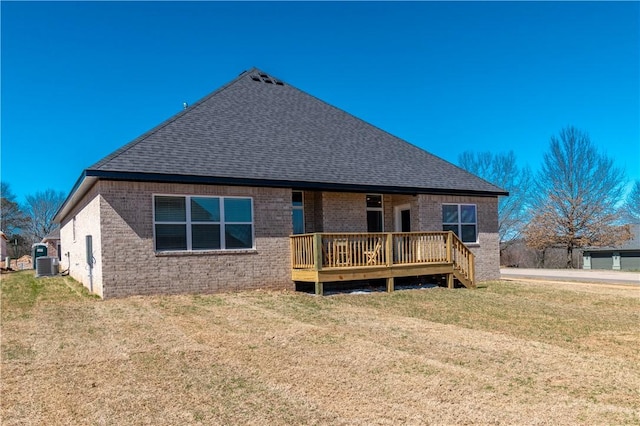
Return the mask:
<svg viewBox="0 0 640 426">
<path fill-rule="evenodd" d="M 638 287 L 1 298 L 5 426 L 640 424 Z"/>
</svg>

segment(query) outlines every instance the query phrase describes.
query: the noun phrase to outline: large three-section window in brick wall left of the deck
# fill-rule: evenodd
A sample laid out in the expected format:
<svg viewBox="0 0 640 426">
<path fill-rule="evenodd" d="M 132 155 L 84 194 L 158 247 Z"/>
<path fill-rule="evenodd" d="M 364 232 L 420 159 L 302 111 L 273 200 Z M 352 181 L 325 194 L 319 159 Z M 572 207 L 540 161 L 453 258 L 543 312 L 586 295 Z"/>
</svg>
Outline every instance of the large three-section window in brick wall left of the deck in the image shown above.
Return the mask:
<svg viewBox="0 0 640 426">
<path fill-rule="evenodd" d="M 157 195 L 153 206 L 157 251 L 253 247 L 251 198 Z"/>
</svg>

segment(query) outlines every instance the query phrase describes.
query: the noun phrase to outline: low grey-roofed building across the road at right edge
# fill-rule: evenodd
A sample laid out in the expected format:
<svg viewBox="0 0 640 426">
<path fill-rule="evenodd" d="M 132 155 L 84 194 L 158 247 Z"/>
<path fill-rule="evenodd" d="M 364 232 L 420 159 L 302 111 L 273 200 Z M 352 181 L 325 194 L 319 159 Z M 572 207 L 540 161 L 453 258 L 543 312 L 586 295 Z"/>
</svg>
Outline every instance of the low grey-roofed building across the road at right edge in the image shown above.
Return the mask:
<svg viewBox="0 0 640 426">
<path fill-rule="evenodd" d="M 640 271 L 640 223 L 630 225 L 631 239 L 618 247 L 593 247 L 582 252 L 583 269 Z"/>
</svg>

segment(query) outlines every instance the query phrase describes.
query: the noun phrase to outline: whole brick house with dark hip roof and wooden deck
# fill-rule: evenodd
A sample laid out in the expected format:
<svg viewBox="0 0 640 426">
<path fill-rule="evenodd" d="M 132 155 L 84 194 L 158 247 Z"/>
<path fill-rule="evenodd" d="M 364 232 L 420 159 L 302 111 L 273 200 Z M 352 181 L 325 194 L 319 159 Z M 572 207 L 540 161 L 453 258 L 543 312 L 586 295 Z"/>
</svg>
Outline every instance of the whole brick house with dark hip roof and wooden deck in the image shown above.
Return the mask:
<svg viewBox="0 0 640 426">
<path fill-rule="evenodd" d="M 499 278 L 498 197 L 258 69 L 82 172 L 62 263 L 103 298 L 444 274 Z"/>
</svg>

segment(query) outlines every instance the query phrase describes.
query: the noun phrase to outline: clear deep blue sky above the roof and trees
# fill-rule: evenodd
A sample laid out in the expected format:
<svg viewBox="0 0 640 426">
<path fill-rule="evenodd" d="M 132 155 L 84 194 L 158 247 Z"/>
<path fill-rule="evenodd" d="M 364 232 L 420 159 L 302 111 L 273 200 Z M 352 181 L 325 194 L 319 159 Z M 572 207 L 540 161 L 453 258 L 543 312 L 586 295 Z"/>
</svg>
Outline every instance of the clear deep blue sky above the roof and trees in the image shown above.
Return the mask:
<svg viewBox="0 0 640 426">
<path fill-rule="evenodd" d="M 1 3 L 19 201 L 256 66 L 448 161 L 534 171 L 567 125 L 640 179 L 638 2 Z"/>
</svg>

